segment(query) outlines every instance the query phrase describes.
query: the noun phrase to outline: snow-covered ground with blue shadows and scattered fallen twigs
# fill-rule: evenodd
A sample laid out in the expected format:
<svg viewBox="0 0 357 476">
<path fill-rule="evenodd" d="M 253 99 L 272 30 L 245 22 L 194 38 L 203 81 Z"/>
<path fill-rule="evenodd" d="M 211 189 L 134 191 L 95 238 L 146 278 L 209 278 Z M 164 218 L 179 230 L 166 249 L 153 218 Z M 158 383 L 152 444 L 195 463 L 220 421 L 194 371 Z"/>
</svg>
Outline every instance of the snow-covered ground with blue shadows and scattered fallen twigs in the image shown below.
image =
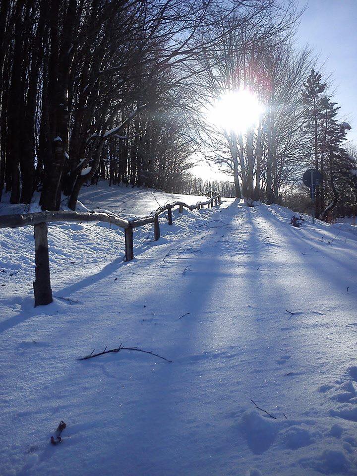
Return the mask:
<svg viewBox="0 0 357 476">
<path fill-rule="evenodd" d="M 80 199 L 156 208 L 113 190 Z M 33 230 L 0 230 L 0 474 L 357 475 L 357 237 L 291 216 L 176 210 L 159 241 L 134 232 L 129 263 L 116 227 L 50 225 L 55 301 L 37 308 Z M 120 343 L 173 362 L 78 360 Z"/>
</svg>

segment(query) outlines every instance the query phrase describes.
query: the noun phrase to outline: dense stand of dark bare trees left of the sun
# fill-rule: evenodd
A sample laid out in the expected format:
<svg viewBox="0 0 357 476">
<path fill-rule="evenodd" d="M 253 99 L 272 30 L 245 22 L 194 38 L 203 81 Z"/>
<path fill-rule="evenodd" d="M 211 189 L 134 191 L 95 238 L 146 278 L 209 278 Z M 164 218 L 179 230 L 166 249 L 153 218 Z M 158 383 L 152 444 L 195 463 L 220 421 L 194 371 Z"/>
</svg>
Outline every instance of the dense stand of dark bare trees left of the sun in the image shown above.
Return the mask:
<svg viewBox="0 0 357 476">
<path fill-rule="evenodd" d="M 0 194 L 43 209 L 110 169 L 165 188 L 187 169 L 184 65 L 220 2 L 4 0 L 0 7 Z M 243 2 L 244 3 L 244 2 Z"/>
</svg>

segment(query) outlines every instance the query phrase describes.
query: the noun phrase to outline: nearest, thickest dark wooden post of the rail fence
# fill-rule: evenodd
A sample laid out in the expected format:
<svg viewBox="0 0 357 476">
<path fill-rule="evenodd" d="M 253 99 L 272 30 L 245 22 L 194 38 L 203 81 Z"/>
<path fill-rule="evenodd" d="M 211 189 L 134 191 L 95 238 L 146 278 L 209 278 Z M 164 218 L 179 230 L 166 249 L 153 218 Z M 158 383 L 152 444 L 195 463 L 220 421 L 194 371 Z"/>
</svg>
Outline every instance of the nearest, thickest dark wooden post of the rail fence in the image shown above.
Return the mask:
<svg viewBox="0 0 357 476">
<path fill-rule="evenodd" d="M 46 223 L 34 226 L 34 238 L 36 268 L 33 287 L 36 307 L 50 304 L 53 301 Z"/>
</svg>

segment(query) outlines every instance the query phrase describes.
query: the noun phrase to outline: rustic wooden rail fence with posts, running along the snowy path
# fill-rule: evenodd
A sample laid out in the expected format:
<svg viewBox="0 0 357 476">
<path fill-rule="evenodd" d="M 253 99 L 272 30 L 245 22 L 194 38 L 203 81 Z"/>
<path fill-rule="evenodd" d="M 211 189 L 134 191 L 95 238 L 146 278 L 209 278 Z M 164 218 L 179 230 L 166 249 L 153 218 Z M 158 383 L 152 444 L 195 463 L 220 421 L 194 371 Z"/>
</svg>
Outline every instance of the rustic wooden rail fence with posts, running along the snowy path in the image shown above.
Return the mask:
<svg viewBox="0 0 357 476">
<path fill-rule="evenodd" d="M 0 228 L 19 228 L 25 226 L 34 227 L 35 238 L 35 281 L 33 283 L 35 306 L 49 304 L 53 301 L 50 277 L 50 258 L 47 239 L 47 223 L 53 222 L 107 222 L 116 225 L 124 230 L 125 235 L 125 261 L 130 261 L 134 257 L 133 229 L 142 227 L 149 223 L 154 226 L 155 241 L 160 238 L 159 216 L 168 212 L 168 223 L 173 224 L 172 210 L 179 207 L 179 213 L 183 208 L 188 210 L 200 210 L 207 205 L 209 208 L 221 203 L 221 195 L 217 194 L 206 201 L 201 201 L 195 205 L 187 205 L 184 202 L 176 201 L 159 207 L 151 215 L 142 218 L 126 220 L 111 213 L 104 212 L 38 212 L 24 215 L 0 215 Z"/>
</svg>

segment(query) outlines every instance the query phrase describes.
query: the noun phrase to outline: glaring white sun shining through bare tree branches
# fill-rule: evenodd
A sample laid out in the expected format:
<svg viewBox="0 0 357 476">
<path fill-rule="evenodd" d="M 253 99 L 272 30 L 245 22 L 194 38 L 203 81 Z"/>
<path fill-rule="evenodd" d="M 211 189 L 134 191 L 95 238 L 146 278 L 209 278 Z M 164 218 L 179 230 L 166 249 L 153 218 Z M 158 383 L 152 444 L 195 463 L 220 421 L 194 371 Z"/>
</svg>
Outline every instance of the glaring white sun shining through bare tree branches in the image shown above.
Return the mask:
<svg viewBox="0 0 357 476">
<path fill-rule="evenodd" d="M 210 117 L 214 124 L 226 131 L 244 133 L 255 127 L 263 113 L 257 96 L 247 89 L 230 91 L 212 108 Z"/>
</svg>

